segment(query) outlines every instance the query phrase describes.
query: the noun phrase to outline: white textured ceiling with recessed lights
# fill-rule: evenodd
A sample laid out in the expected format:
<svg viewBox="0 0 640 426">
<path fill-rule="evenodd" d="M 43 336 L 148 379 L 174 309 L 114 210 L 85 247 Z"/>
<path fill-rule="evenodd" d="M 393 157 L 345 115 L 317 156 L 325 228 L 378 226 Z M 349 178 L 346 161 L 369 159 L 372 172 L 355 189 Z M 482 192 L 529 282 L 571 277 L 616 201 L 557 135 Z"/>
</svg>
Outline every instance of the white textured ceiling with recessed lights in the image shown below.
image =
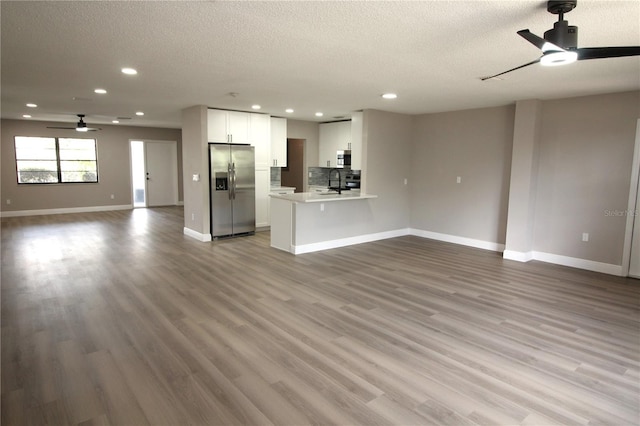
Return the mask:
<svg viewBox="0 0 640 426">
<path fill-rule="evenodd" d="M 540 56 L 516 31 L 553 26 L 544 1 L 0 4 L 3 118 L 85 113 L 90 124 L 126 116 L 178 128 L 192 105 L 257 103 L 326 121 L 364 108 L 421 114 L 640 89 L 639 57 L 536 64 L 481 81 Z M 565 19 L 579 27 L 579 47 L 640 45 L 640 2 L 580 0 Z"/>
</svg>

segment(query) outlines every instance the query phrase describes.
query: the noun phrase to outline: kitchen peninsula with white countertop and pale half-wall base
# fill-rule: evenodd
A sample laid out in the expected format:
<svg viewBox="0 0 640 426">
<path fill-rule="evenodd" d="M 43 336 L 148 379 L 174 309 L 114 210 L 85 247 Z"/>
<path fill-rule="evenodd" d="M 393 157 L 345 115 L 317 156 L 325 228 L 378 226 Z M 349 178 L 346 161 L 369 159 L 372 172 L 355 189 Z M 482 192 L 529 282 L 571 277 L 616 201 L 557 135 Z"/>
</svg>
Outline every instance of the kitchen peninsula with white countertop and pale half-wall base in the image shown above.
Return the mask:
<svg viewBox="0 0 640 426">
<path fill-rule="evenodd" d="M 374 198 L 359 191 L 272 194 L 271 247 L 301 254 L 365 242 Z"/>
</svg>

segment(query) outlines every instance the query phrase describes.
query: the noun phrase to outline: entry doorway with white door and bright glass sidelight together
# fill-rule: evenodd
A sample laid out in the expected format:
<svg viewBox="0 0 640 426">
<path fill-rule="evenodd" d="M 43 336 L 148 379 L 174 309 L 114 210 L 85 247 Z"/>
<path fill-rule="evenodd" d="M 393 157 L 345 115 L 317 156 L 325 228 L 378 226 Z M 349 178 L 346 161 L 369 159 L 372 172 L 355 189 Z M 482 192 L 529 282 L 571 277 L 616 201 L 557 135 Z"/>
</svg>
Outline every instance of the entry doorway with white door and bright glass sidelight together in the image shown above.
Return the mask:
<svg viewBox="0 0 640 426">
<path fill-rule="evenodd" d="M 178 204 L 178 148 L 175 141 L 131 140 L 134 208 Z"/>
</svg>

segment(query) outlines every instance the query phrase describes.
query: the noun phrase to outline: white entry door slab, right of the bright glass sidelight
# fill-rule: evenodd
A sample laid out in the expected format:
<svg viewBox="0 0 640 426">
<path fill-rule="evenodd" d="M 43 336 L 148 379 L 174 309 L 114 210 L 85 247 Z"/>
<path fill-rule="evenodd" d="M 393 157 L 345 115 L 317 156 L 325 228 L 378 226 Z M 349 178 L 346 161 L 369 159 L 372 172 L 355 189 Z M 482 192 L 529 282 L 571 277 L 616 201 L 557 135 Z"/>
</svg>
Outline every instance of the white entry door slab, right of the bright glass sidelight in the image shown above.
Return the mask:
<svg viewBox="0 0 640 426">
<path fill-rule="evenodd" d="M 145 141 L 147 207 L 178 204 L 176 142 Z"/>
</svg>

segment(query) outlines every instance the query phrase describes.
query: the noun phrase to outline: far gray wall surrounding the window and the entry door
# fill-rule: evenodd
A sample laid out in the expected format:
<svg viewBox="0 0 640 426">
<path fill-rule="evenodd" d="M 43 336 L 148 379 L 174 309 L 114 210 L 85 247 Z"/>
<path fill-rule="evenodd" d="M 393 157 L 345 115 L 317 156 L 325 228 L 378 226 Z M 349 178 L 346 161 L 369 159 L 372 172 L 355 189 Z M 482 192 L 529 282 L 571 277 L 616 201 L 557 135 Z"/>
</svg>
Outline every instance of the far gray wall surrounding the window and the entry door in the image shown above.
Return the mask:
<svg viewBox="0 0 640 426">
<path fill-rule="evenodd" d="M 31 120 L 2 120 L 2 202 L 3 212 L 41 209 L 121 206 L 132 203 L 129 140 L 148 139 L 178 142 L 178 198 L 183 199 L 180 129 L 100 125 L 95 137 L 98 146 L 98 179 L 95 184 L 18 185 L 15 164 L 15 136 L 77 136 L 74 130 L 47 129 L 60 126 Z M 110 195 L 114 194 L 115 199 Z M 11 199 L 7 205 L 6 200 Z"/>
</svg>

